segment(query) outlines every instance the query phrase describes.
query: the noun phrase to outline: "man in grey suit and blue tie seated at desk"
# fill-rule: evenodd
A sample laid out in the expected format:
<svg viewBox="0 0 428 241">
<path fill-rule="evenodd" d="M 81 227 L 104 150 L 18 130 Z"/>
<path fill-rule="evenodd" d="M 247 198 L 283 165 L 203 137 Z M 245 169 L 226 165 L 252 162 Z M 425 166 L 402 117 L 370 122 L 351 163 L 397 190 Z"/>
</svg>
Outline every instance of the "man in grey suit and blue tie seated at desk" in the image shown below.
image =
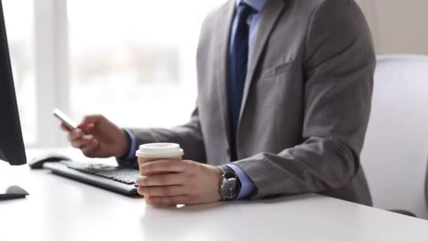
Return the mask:
<svg viewBox="0 0 428 241">
<path fill-rule="evenodd" d="M 185 161 L 141 166 L 151 204 L 318 192 L 371 205 L 359 156 L 374 65 L 353 0 L 229 0 L 203 23 L 187 125 L 130 130 L 87 116 L 68 138 L 128 166 L 139 144 L 179 143 Z"/>
</svg>

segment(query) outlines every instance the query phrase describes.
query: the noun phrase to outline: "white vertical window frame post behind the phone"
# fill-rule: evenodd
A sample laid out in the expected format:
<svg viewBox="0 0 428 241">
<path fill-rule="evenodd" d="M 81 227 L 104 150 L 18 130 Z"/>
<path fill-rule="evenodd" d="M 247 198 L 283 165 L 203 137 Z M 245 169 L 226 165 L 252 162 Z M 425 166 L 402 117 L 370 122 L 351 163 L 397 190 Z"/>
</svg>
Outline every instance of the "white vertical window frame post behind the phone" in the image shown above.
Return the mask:
<svg viewBox="0 0 428 241">
<path fill-rule="evenodd" d="M 36 142 L 31 147 L 67 144 L 52 110 L 70 111 L 67 0 L 34 0 Z"/>
</svg>

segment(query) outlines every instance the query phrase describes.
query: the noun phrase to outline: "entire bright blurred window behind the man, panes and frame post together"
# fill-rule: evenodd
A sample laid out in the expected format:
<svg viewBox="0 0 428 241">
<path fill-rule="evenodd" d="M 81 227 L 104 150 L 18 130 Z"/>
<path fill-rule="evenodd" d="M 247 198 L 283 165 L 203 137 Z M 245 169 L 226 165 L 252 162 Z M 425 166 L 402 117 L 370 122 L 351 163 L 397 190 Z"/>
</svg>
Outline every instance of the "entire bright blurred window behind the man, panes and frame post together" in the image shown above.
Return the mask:
<svg viewBox="0 0 428 241">
<path fill-rule="evenodd" d="M 223 2 L 2 1 L 27 147 L 68 145 L 54 107 L 123 127 L 189 121 L 201 24 Z"/>
</svg>

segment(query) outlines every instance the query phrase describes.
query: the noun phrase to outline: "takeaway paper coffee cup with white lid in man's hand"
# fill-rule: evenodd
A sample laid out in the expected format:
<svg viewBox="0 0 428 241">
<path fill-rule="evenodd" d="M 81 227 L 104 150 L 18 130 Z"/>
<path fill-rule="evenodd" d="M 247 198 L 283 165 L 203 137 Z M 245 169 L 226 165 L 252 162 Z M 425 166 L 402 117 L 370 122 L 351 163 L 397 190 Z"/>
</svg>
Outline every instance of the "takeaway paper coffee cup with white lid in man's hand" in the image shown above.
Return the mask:
<svg viewBox="0 0 428 241">
<path fill-rule="evenodd" d="M 183 149 L 180 149 L 180 144 L 176 143 L 150 143 L 150 144 L 141 144 L 135 156 L 138 158 L 138 166 L 141 173 L 140 166 L 143 163 L 156 160 L 177 160 L 180 161 L 184 155 Z M 165 171 L 153 173 L 168 173 Z M 142 173 L 141 173 L 142 175 Z"/>
</svg>

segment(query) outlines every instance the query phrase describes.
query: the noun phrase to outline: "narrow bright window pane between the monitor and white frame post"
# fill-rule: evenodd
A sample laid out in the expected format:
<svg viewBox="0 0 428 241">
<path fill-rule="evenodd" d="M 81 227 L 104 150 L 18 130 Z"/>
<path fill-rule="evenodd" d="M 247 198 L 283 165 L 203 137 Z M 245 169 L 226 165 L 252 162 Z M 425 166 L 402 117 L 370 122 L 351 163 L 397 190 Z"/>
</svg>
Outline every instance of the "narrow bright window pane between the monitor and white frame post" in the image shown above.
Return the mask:
<svg viewBox="0 0 428 241">
<path fill-rule="evenodd" d="M 24 142 L 37 142 L 33 1 L 2 1 Z"/>
</svg>

